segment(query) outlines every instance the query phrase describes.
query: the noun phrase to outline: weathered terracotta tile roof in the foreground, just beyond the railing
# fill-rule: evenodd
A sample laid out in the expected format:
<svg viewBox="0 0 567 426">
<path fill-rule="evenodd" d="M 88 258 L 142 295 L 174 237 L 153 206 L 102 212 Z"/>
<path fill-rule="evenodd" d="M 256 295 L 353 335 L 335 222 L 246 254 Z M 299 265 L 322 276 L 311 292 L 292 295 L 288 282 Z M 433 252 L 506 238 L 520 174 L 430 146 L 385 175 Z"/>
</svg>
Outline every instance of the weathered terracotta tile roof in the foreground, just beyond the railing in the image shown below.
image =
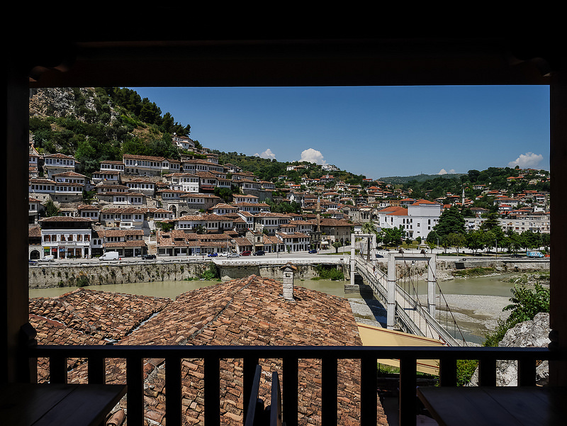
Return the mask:
<svg viewBox="0 0 567 426">
<path fill-rule="evenodd" d="M 279 281 L 254 275 L 199 288 L 181 294 L 173 302 L 162 303 L 159 312 L 135 329 L 134 318 L 128 316 L 130 310 L 135 314 L 141 313 L 147 308 L 142 303 L 149 302 L 150 298 L 130 298 L 119 294 L 103 296 L 101 292 L 93 292 L 91 295 L 88 291 L 84 294 L 78 293 L 79 291 L 76 294 L 68 293 L 62 298 L 76 306 L 81 313 L 92 312 L 93 324 L 100 327 L 97 330 L 100 330 L 101 335 L 121 330 L 122 339 L 118 344 L 361 345 L 357 324 L 346 299 L 296 287 L 295 301 L 285 301 L 281 291 L 282 284 Z M 104 302 L 105 299 L 116 303 L 108 305 Z M 118 303 L 121 300 L 123 303 Z M 159 299 L 150 306 L 155 308 L 157 303 Z M 86 306 L 96 306 L 96 309 L 91 308 L 87 312 Z M 126 306 L 128 310 L 124 309 Z M 44 312 L 42 315 L 49 316 L 50 313 Z M 139 316 L 134 317 L 140 319 Z M 80 319 L 79 323 L 82 323 L 83 318 Z M 38 332 L 43 333 L 44 324 L 45 321 L 35 323 Z M 70 326 L 71 323 L 68 324 Z M 77 339 L 74 337 L 73 341 Z M 163 359 L 145 360 L 145 417 L 147 421 L 152 421 L 151 424 L 161 423 L 165 415 L 163 362 Z M 267 373 L 279 371 L 281 374 L 281 360 L 262 359 L 260 363 L 264 371 L 260 398 L 269 403 L 271 375 Z M 320 360 L 300 359 L 298 367 L 299 422 L 302 425 L 318 425 L 321 410 Z M 221 422 L 225 425 L 242 425 L 242 359 L 221 359 L 220 370 Z M 339 360 L 337 400 L 341 425 L 359 425 L 359 377 L 359 361 Z M 107 365 L 107 383 L 123 383 L 124 379 L 125 363 L 122 360 Z M 85 380 L 84 364 L 69 373 L 69 383 Z M 202 359 L 182 360 L 181 386 L 184 424 L 202 423 Z M 123 403 L 124 401 L 121 404 Z M 383 410 L 377 403 L 378 424 L 387 425 Z"/>
</svg>

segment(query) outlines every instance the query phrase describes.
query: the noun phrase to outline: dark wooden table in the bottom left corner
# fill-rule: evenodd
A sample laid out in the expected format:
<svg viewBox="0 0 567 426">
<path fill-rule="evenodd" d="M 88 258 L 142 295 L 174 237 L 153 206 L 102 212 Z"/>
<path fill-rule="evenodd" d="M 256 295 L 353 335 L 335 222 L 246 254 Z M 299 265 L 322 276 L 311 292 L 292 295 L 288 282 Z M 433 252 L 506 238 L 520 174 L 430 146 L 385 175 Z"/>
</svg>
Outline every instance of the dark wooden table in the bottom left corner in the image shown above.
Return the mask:
<svg viewBox="0 0 567 426">
<path fill-rule="evenodd" d="M 0 389 L 0 424 L 99 426 L 125 393 L 124 385 L 9 383 Z"/>
</svg>

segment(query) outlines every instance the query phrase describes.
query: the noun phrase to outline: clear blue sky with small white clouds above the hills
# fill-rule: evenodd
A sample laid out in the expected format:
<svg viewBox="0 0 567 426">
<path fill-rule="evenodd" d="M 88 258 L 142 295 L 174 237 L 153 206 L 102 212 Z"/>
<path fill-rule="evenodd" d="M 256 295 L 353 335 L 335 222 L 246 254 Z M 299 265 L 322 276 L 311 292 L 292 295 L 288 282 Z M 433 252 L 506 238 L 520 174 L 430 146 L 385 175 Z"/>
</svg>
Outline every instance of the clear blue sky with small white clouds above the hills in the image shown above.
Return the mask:
<svg viewBox="0 0 567 426">
<path fill-rule="evenodd" d="M 204 147 L 378 179 L 549 170 L 547 86 L 141 88 Z"/>
</svg>

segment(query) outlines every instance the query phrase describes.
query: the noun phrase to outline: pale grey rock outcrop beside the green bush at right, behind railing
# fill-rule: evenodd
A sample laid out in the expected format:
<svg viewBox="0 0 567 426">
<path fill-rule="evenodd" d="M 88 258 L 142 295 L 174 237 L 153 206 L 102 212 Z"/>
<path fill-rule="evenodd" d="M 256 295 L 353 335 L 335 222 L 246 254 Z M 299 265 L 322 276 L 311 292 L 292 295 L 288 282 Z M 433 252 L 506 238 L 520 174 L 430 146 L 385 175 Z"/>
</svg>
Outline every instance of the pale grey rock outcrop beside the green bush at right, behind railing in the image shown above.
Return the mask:
<svg viewBox="0 0 567 426">
<path fill-rule="evenodd" d="M 516 324 L 508 330 L 499 347 L 547 347 L 549 344 L 549 313 L 538 313 L 533 320 Z M 536 369 L 538 385 L 546 385 L 549 379 L 547 361 Z M 478 385 L 478 369 L 473 374 L 471 386 Z M 503 360 L 496 363 L 496 386 L 517 386 L 517 361 Z"/>
</svg>

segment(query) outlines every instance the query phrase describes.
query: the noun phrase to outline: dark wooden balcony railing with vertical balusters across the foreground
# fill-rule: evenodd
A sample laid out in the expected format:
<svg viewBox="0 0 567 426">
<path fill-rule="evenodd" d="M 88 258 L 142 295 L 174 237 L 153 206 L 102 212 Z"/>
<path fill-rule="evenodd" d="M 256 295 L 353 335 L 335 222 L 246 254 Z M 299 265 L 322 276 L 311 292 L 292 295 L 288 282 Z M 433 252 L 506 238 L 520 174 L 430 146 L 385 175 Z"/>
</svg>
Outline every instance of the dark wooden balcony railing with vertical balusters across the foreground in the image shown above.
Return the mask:
<svg viewBox="0 0 567 426">
<path fill-rule="evenodd" d="M 143 359 L 165 359 L 165 411 L 168 426 L 182 423 L 181 360 L 204 361 L 204 422 L 220 424 L 220 359 L 243 359 L 244 413 L 259 374 L 259 359 L 282 360 L 281 418 L 286 426 L 298 424 L 298 360 L 322 360 L 322 425 L 337 425 L 337 365 L 339 359 L 360 359 L 361 425 L 376 425 L 377 359 L 399 359 L 400 425 L 415 425 L 416 361 L 439 359 L 439 385 L 456 386 L 457 360 L 477 359 L 479 385 L 495 386 L 496 361 L 518 361 L 518 386 L 534 386 L 538 360 L 560 358 L 547 348 L 510 347 L 242 347 L 242 346 L 38 346 L 30 348 L 31 361 L 50 359 L 50 381 L 67 382 L 67 359 L 88 359 L 89 383 L 105 383 L 105 359 L 126 359 L 128 425 L 143 424 Z M 279 380 L 277 380 L 279 386 Z M 279 391 L 275 390 L 279 396 Z M 255 398 L 252 398 L 256 400 Z M 277 404 L 277 401 L 276 401 Z M 277 406 L 277 405 L 276 405 Z M 246 415 L 246 414 L 245 414 Z M 246 421 L 246 419 L 245 419 Z"/>
</svg>

